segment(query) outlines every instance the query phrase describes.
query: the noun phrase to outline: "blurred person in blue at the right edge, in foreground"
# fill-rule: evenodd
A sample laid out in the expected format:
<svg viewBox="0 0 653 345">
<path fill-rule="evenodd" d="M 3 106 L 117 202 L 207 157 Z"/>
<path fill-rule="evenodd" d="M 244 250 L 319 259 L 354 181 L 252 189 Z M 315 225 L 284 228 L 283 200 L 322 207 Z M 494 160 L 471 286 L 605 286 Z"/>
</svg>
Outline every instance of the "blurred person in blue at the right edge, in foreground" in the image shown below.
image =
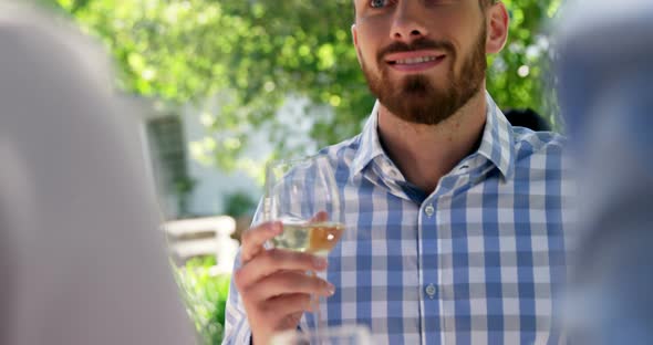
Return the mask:
<svg viewBox="0 0 653 345">
<path fill-rule="evenodd" d="M 566 303 L 573 344 L 653 344 L 653 1 L 571 1 L 560 101 L 581 233 Z"/>
</svg>

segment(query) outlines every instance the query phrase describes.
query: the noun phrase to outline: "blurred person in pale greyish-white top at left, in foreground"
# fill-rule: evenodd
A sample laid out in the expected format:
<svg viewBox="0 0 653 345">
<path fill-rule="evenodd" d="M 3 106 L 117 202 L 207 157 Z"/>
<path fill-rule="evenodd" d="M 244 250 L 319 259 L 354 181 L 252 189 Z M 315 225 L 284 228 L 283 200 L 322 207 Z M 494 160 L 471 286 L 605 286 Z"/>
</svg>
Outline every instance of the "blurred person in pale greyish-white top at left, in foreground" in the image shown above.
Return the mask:
<svg viewBox="0 0 653 345">
<path fill-rule="evenodd" d="M 8 1 L 0 46 L 0 344 L 193 344 L 105 56 Z"/>
</svg>

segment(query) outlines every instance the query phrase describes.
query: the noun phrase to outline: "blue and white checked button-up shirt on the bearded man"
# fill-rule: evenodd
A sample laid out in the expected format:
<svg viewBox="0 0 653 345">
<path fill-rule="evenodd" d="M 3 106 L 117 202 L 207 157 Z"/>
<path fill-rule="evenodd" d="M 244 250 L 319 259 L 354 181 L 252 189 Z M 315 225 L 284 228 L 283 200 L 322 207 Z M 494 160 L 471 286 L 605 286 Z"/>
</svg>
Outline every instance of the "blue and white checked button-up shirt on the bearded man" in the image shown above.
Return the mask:
<svg viewBox="0 0 653 345">
<path fill-rule="evenodd" d="M 487 104 L 478 150 L 431 195 L 383 151 L 377 106 L 362 134 L 321 153 L 348 224 L 325 272 L 336 286 L 320 305 L 329 325 L 366 325 L 373 344 L 563 343 L 552 317 L 573 215 L 563 140 L 512 127 Z M 312 325 L 304 314 L 300 326 Z M 250 334 L 232 283 L 224 343 Z"/>
</svg>

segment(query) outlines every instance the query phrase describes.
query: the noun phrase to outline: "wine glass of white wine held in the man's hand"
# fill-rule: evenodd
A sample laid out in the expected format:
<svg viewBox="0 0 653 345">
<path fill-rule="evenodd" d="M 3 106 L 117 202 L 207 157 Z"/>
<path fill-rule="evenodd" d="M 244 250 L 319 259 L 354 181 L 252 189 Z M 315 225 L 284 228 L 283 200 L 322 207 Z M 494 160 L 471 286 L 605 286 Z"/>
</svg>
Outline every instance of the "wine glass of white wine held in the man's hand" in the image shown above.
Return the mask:
<svg viewBox="0 0 653 345">
<path fill-rule="evenodd" d="M 281 221 L 274 248 L 326 257 L 344 231 L 333 167 L 324 156 L 274 160 L 266 167 L 263 221 Z M 310 274 L 315 274 L 310 272 Z M 319 297 L 313 305 L 321 327 Z"/>
</svg>

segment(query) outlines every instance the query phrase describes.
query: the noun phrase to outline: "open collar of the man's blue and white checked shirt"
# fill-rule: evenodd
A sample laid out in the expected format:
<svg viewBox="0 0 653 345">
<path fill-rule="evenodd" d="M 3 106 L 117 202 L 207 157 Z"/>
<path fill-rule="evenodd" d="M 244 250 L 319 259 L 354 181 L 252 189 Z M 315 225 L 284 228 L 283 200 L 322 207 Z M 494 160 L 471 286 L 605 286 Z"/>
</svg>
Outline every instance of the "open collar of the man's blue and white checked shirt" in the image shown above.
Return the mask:
<svg viewBox="0 0 653 345">
<path fill-rule="evenodd" d="M 509 178 L 515 169 L 512 126 L 487 92 L 486 104 L 486 125 L 477 154 L 493 163 L 505 178 Z M 374 158 L 386 156 L 379 139 L 379 107 L 376 101 L 361 133 L 359 149 L 350 167 L 351 176 L 361 172 Z"/>
</svg>

